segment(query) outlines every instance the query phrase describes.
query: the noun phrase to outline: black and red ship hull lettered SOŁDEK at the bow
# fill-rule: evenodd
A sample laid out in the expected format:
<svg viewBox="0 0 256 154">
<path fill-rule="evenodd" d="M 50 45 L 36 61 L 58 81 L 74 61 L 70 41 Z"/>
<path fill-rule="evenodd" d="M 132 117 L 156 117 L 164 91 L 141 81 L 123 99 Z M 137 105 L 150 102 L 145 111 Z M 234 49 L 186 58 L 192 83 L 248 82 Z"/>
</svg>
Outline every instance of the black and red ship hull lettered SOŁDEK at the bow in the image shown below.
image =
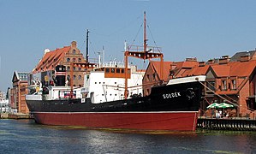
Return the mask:
<svg viewBox="0 0 256 154">
<path fill-rule="evenodd" d="M 29 100 L 36 122 L 93 128 L 194 131 L 202 94 L 198 81 L 152 87 L 147 97 L 92 104 L 86 99 Z"/>
</svg>

